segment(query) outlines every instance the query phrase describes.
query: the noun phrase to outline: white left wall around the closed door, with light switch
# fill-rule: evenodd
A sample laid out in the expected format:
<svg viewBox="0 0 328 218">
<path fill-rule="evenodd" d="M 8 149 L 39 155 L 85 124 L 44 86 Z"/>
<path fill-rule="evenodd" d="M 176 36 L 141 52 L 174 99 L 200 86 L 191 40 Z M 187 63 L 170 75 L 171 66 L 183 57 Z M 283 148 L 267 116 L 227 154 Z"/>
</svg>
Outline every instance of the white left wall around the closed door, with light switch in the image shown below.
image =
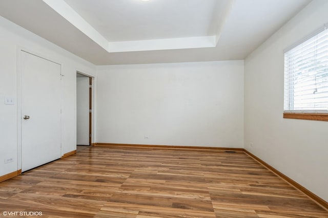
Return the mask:
<svg viewBox="0 0 328 218">
<path fill-rule="evenodd" d="M 17 126 L 17 49 L 61 64 L 63 102 L 61 154 L 76 149 L 76 70 L 95 74 L 94 65 L 61 49 L 49 41 L 0 17 L 0 176 L 20 169 L 19 132 Z M 18 65 L 19 66 L 19 65 Z M 14 105 L 4 105 L 4 97 L 14 98 Z M 4 160 L 13 158 L 5 164 Z"/>
</svg>

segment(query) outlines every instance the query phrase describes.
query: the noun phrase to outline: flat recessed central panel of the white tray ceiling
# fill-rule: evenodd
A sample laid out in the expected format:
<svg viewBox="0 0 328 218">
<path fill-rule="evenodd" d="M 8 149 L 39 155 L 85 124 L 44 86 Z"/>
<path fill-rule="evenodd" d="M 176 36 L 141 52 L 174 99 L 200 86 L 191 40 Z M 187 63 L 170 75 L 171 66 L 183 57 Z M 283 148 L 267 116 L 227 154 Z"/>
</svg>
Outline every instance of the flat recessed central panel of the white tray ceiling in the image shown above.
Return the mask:
<svg viewBox="0 0 328 218">
<path fill-rule="evenodd" d="M 65 0 L 108 41 L 215 35 L 216 0 Z M 99 7 L 101 5 L 101 7 Z M 96 15 L 96 16 L 95 16 Z"/>
</svg>

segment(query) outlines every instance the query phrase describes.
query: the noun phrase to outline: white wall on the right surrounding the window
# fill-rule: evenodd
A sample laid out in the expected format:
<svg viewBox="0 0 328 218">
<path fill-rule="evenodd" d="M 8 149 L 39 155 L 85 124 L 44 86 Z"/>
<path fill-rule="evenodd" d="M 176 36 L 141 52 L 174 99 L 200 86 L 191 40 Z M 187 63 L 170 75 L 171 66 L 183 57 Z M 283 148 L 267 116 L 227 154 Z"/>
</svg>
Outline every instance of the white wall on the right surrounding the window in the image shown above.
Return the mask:
<svg viewBox="0 0 328 218">
<path fill-rule="evenodd" d="M 284 119 L 283 49 L 328 22 L 313 1 L 245 59 L 244 146 L 328 201 L 328 122 Z M 251 147 L 250 143 L 254 146 Z"/>
</svg>

